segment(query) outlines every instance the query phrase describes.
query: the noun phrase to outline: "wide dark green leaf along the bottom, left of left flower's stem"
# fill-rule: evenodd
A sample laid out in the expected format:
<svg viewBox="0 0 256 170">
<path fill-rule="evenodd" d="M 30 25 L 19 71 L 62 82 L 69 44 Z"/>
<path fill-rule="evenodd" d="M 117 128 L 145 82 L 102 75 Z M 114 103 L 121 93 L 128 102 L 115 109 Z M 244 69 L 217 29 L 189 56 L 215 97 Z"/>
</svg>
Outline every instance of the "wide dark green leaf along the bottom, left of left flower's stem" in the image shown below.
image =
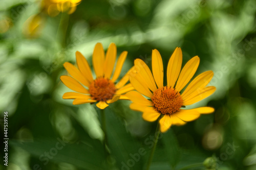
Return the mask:
<svg viewBox="0 0 256 170">
<path fill-rule="evenodd" d="M 50 140 L 35 140 L 34 142 L 19 142 L 10 140 L 13 147 L 20 147 L 34 156 L 38 156 L 38 164 L 47 165 L 49 161 L 66 162 L 84 169 L 105 169 L 100 141 L 94 143 L 71 144 L 60 138 Z M 49 154 L 49 155 L 47 155 Z"/>
</svg>

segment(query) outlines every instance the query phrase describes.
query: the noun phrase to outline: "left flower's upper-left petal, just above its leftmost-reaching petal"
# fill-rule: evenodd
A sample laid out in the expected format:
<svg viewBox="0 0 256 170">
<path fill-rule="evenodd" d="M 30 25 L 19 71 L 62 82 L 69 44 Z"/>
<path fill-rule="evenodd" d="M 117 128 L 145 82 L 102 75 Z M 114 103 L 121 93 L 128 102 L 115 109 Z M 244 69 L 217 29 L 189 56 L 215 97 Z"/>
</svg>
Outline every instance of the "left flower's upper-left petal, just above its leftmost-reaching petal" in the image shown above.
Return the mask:
<svg viewBox="0 0 256 170">
<path fill-rule="evenodd" d="M 63 66 L 69 72 L 70 76 L 72 76 L 74 79 L 82 83 L 84 86 L 87 86 L 87 87 L 90 86 L 90 83 L 87 81 L 87 79 L 81 74 L 81 72 L 73 64 L 69 62 L 65 62 Z"/>
</svg>

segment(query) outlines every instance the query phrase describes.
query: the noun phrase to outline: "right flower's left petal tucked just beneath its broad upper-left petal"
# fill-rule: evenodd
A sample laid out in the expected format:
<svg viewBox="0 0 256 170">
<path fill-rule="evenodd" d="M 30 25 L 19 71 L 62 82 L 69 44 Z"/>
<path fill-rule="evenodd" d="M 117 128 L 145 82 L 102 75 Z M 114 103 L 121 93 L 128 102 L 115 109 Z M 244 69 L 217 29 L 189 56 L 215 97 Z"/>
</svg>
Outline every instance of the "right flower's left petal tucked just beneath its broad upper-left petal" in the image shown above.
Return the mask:
<svg viewBox="0 0 256 170">
<path fill-rule="evenodd" d="M 138 75 L 135 75 L 134 77 L 130 76 L 130 82 L 138 92 L 145 96 L 148 96 L 148 98 L 152 98 L 152 92 L 144 85 L 144 82 L 138 79 Z"/>
</svg>

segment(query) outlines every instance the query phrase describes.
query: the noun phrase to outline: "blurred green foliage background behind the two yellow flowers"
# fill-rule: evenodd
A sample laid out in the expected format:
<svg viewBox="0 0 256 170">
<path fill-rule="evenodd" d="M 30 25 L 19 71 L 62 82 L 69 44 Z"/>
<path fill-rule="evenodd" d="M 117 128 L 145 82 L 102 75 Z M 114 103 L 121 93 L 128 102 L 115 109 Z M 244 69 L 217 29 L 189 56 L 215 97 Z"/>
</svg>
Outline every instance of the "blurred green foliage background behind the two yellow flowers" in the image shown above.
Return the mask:
<svg viewBox="0 0 256 170">
<path fill-rule="evenodd" d="M 37 0 L 0 1 L 1 136 L 8 111 L 10 139 L 8 167 L 1 159 L 0 169 L 144 168 L 156 122 L 130 110 L 130 101 L 111 104 L 105 160 L 99 110 L 62 99 L 71 91 L 59 80 L 67 75 L 62 64 L 75 64 L 80 51 L 92 65 L 97 42 L 105 50 L 116 43 L 118 55 L 128 51 L 121 76 L 136 58 L 151 67 L 155 48 L 166 70 L 177 46 L 183 65 L 200 57 L 196 75 L 215 72 L 216 92 L 187 107 L 207 105 L 215 113 L 160 135 L 151 169 L 256 169 L 256 1 L 90 0 L 58 10 Z"/>
</svg>

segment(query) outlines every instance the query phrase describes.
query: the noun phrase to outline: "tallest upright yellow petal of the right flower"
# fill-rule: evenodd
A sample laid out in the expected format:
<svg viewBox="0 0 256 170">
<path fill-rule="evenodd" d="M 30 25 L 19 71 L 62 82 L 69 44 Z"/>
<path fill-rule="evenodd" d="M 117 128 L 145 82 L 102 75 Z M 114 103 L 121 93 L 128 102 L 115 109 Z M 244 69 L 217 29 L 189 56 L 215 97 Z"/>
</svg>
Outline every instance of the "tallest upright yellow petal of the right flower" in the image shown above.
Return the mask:
<svg viewBox="0 0 256 170">
<path fill-rule="evenodd" d="M 167 86 L 173 87 L 179 77 L 182 64 L 182 52 L 181 48 L 177 47 L 170 57 L 167 66 Z"/>
</svg>

